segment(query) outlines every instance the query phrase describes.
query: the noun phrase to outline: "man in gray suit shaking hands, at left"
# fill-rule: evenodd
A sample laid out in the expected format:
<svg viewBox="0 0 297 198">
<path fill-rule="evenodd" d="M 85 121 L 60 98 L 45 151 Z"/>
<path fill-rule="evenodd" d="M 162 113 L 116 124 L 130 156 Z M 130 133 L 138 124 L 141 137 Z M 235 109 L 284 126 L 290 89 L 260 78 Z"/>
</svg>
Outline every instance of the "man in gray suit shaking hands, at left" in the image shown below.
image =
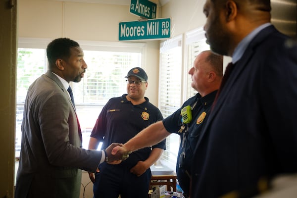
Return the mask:
<svg viewBox="0 0 297 198">
<path fill-rule="evenodd" d="M 119 163 L 122 154 L 82 148 L 82 136 L 69 82 L 80 82 L 87 64 L 79 44 L 67 38 L 49 43 L 49 71 L 29 88 L 24 105 L 22 143 L 15 198 L 79 198 L 81 170 Z M 70 88 L 71 89 L 71 88 Z"/>
</svg>

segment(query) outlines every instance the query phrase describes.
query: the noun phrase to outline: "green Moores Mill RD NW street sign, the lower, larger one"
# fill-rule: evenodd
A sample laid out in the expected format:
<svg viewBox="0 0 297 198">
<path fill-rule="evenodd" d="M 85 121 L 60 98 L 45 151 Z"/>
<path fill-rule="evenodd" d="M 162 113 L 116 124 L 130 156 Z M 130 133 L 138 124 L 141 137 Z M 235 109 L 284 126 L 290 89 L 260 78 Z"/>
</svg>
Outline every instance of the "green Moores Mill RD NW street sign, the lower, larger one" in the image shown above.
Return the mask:
<svg viewBox="0 0 297 198">
<path fill-rule="evenodd" d="M 170 18 L 119 23 L 119 41 L 170 38 Z"/>
</svg>

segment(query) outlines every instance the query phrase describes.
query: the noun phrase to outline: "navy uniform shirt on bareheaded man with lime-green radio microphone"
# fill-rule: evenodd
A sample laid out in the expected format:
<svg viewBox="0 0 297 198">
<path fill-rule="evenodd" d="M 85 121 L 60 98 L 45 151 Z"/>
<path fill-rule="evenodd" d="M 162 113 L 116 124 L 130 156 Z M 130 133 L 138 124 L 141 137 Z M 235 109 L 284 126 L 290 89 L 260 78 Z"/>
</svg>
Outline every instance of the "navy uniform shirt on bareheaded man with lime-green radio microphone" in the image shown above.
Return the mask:
<svg viewBox="0 0 297 198">
<path fill-rule="evenodd" d="M 179 108 L 172 115 L 168 116 L 163 120 L 163 124 L 168 132 L 177 133 L 181 137 L 181 144 L 179 147 L 177 165 L 176 165 L 176 173 L 177 173 L 179 184 L 187 195 L 189 195 L 190 193 L 189 176 L 191 175 L 193 153 L 196 148 L 198 138 L 202 131 L 202 128 L 203 126 L 205 126 L 207 118 L 209 117 L 211 105 L 216 96 L 216 93 L 217 91 L 214 91 L 204 96 L 203 98 L 201 98 L 201 95 L 199 93 L 196 94 L 196 96 L 185 101 L 181 108 Z M 194 106 L 194 108 L 192 109 L 192 121 L 188 124 L 184 124 L 185 126 L 187 125 L 186 129 L 188 129 L 188 132 L 186 135 L 187 138 L 184 143 L 184 148 L 182 148 L 182 142 L 183 142 L 185 130 L 183 130 L 182 132 L 178 132 L 178 131 L 183 125 L 181 109 L 187 105 L 190 105 L 191 107 Z M 180 158 L 182 158 L 180 157 L 180 155 L 183 151 L 185 152 L 185 158 L 183 158 L 183 160 L 180 161 Z M 181 167 L 180 167 L 180 162 L 182 165 Z"/>
</svg>

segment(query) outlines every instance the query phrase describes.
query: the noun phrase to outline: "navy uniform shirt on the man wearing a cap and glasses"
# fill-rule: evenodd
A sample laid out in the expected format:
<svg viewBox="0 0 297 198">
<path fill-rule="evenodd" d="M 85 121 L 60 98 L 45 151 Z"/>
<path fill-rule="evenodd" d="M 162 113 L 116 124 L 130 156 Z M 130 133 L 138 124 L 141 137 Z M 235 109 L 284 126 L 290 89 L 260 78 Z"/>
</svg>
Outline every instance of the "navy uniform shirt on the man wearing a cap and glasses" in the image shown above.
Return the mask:
<svg viewBox="0 0 297 198">
<path fill-rule="evenodd" d="M 102 142 L 102 149 L 111 143 L 126 143 L 141 130 L 159 120 L 163 119 L 160 110 L 148 101 L 133 105 L 126 99 L 127 94 L 122 97 L 111 98 L 103 107 L 92 130 L 91 137 Z M 166 139 L 152 148 L 166 149 Z M 144 161 L 150 155 L 151 148 L 142 148 L 134 151 L 119 165 L 133 167 L 138 161 Z"/>
</svg>

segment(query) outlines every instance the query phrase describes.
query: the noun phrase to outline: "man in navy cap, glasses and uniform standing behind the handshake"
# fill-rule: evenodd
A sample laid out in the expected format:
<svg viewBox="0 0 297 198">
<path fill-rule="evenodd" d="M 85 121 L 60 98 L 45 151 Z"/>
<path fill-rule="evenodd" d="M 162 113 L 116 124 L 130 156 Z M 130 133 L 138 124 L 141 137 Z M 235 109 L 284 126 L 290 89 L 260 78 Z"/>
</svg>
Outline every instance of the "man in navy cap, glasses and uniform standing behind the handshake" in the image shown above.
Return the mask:
<svg viewBox="0 0 297 198">
<path fill-rule="evenodd" d="M 89 149 L 102 149 L 110 143 L 126 143 L 138 132 L 163 119 L 160 110 L 144 97 L 148 88 L 148 76 L 140 68 L 132 68 L 127 78 L 127 94 L 109 99 L 93 128 Z M 94 183 L 95 198 L 145 198 L 151 178 L 149 167 L 166 148 L 165 141 L 139 149 L 120 164 L 102 163 L 98 173 L 89 173 Z"/>
</svg>

